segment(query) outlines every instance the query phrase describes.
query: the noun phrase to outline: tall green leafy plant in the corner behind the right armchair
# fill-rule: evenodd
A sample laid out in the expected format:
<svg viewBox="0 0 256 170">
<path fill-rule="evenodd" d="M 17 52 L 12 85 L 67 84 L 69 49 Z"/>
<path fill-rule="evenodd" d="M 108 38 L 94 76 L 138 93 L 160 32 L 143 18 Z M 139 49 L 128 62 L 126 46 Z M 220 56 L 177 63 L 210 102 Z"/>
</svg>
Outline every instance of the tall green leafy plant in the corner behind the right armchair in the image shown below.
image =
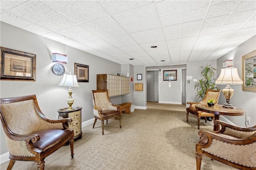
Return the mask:
<svg viewBox="0 0 256 170">
<path fill-rule="evenodd" d="M 219 90 L 215 84 L 216 78 L 214 78 L 216 70 L 216 68 L 211 67 L 211 64 L 199 67 L 198 75 L 201 76 L 202 79 L 198 80 L 194 85 L 194 89 L 196 90 L 196 99 L 203 99 L 206 95 L 207 89 Z"/>
</svg>

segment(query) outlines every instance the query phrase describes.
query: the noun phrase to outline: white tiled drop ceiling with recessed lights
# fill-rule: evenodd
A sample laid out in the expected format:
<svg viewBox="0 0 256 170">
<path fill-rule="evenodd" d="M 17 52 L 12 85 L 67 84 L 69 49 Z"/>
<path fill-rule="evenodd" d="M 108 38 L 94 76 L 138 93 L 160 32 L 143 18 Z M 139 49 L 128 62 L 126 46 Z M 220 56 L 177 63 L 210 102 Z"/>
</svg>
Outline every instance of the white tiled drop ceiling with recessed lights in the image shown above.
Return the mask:
<svg viewBox="0 0 256 170">
<path fill-rule="evenodd" d="M 215 60 L 256 35 L 255 0 L 1 0 L 0 9 L 3 22 L 120 64 Z"/>
</svg>

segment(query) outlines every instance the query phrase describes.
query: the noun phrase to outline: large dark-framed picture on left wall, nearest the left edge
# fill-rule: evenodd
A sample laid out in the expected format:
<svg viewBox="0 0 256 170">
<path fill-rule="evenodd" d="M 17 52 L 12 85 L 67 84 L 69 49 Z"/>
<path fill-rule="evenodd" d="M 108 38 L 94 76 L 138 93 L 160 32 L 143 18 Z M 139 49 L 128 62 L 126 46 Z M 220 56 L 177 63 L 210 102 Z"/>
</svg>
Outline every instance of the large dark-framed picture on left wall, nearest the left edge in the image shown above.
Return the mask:
<svg viewBox="0 0 256 170">
<path fill-rule="evenodd" d="M 1 48 L 1 80 L 36 81 L 36 55 Z"/>
</svg>

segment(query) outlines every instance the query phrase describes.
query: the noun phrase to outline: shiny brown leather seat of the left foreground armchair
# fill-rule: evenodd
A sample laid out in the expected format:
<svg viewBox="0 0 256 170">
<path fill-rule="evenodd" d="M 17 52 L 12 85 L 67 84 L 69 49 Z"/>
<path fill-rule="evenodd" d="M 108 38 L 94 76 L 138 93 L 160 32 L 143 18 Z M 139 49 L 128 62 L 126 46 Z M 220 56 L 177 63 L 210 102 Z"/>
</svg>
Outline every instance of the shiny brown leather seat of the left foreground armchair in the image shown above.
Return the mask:
<svg viewBox="0 0 256 170">
<path fill-rule="evenodd" d="M 72 129 L 47 129 L 35 132 L 40 136 L 40 140 L 34 146 L 46 152 L 62 143 L 67 137 L 72 135 Z"/>
</svg>

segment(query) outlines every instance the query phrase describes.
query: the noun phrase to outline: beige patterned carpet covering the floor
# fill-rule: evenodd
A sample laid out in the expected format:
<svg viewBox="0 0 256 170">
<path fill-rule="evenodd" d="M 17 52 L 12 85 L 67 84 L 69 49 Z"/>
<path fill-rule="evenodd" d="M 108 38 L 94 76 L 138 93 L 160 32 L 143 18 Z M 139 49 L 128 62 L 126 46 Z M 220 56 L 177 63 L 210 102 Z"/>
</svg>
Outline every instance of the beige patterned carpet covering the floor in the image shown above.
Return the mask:
<svg viewBox="0 0 256 170">
<path fill-rule="evenodd" d="M 203 122 L 200 129 L 212 131 L 213 122 Z M 110 119 L 104 135 L 100 121 L 82 132 L 82 139 L 74 143 L 74 158 L 64 146 L 45 159 L 45 170 L 196 170 L 197 118 L 190 114 L 187 123 L 184 111 L 135 109 L 122 114 L 122 129 L 118 120 Z M 7 166 L 8 162 L 1 164 L 0 169 Z M 35 162 L 21 161 L 13 168 L 35 169 Z M 235 169 L 203 156 L 201 170 Z"/>
</svg>

